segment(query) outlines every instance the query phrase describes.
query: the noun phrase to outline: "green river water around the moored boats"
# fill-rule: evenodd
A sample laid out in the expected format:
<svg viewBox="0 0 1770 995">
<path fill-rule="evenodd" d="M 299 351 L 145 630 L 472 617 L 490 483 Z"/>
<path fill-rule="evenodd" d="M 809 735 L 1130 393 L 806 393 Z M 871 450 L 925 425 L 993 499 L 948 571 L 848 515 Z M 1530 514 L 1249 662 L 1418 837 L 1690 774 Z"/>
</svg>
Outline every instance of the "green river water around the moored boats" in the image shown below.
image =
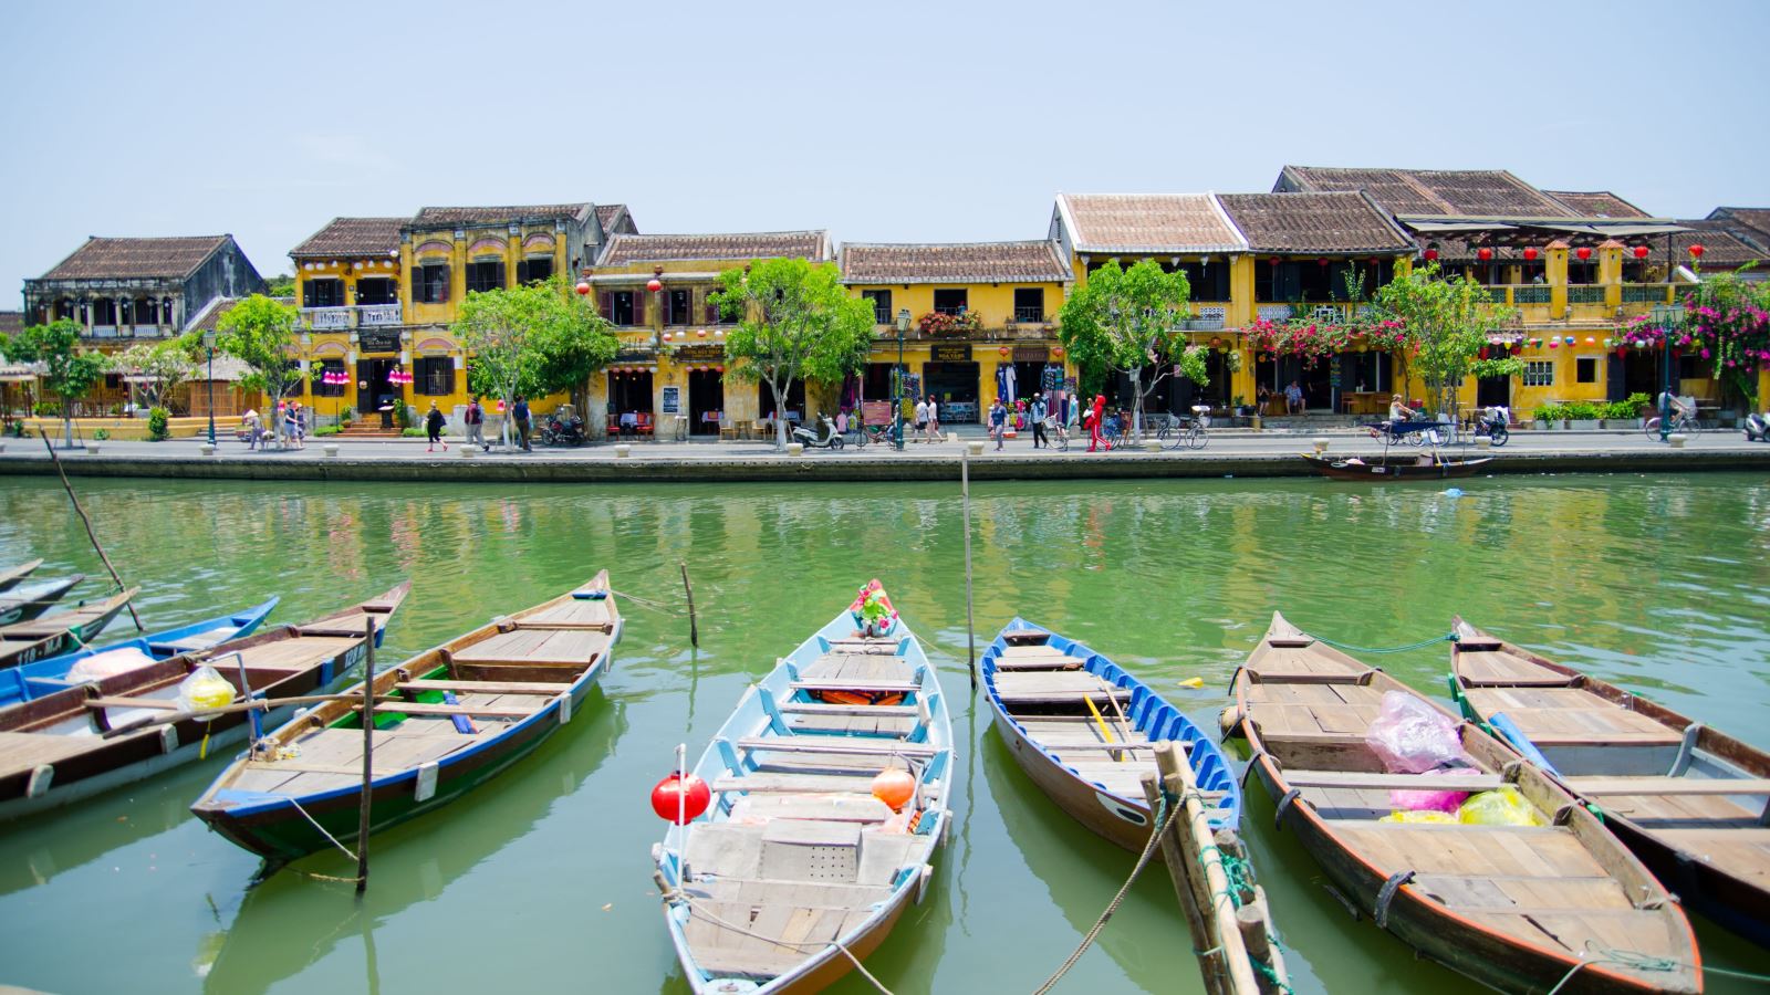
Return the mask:
<svg viewBox="0 0 1770 995">
<path fill-rule="evenodd" d="M 952 485 L 503 487 L 78 482 L 149 629 L 281 595 L 301 621 L 411 577 L 382 662 L 607 567 L 625 641 L 589 708 L 466 802 L 372 841 L 372 882 L 283 871 L 188 806 L 223 758 L 0 827 L 0 983 L 46 991 L 662 991 L 681 979 L 651 885 L 651 784 L 699 754 L 745 685 L 867 577 L 890 590 L 952 699 L 958 825 L 935 887 L 869 960 L 908 991 L 1032 991 L 1133 855 L 1057 811 L 966 696 Z M 1549 476 L 1443 485 L 988 483 L 974 489 L 979 646 L 1014 614 L 1080 637 L 1214 728 L 1271 611 L 1397 646 L 1471 621 L 1770 747 L 1770 480 Z M 0 480 L 0 563 L 103 574 L 60 485 Z M 94 586 L 96 588 L 96 586 Z M 129 629 L 113 623 L 112 636 Z M 1370 657 L 1443 696 L 1443 646 Z M 1202 676 L 1204 689 L 1179 682 Z M 1765 722 L 1765 724 L 1761 724 Z M 1462 991 L 1368 921 L 1271 823 L 1243 832 L 1297 991 Z M 317 855 L 297 868 L 347 875 Z M 1697 919 L 1705 960 L 1765 954 Z M 1131 889 L 1058 991 L 1198 991 L 1166 873 Z M 1742 990 L 1710 979 L 1710 991 Z M 846 993 L 871 991 L 850 977 Z"/>
</svg>

